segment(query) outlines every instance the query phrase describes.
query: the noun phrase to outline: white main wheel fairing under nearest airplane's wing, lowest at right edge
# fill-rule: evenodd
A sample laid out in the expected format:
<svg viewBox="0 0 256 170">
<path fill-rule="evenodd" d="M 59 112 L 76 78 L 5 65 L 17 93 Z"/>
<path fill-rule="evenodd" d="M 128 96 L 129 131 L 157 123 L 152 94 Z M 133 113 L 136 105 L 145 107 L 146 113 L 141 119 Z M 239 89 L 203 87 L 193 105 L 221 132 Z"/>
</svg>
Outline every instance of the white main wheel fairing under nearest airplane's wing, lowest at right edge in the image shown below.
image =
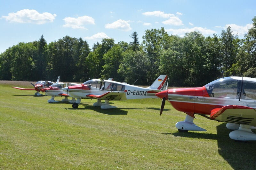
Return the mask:
<svg viewBox="0 0 256 170">
<path fill-rule="evenodd" d="M 252 132 L 254 126 L 240 124 L 239 129 L 229 133 L 229 138 L 237 141 L 256 140 L 256 133 Z"/>
</svg>

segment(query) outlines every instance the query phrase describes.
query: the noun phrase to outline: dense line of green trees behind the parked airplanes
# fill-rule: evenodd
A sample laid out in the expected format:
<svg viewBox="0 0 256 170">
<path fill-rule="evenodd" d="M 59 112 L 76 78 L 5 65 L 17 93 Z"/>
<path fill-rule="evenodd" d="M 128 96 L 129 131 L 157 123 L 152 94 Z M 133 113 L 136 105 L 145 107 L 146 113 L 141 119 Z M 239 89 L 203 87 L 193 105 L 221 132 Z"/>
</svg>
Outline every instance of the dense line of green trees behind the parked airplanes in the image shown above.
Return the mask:
<svg viewBox="0 0 256 170">
<path fill-rule="evenodd" d="M 151 84 L 159 74 L 171 86 L 202 86 L 225 76 L 256 77 L 256 16 L 244 39 L 228 27 L 220 35 L 200 32 L 184 37 L 164 28 L 146 30 L 143 41 L 133 32 L 131 42 L 102 39 L 90 49 L 82 38 L 65 36 L 47 44 L 20 42 L 0 54 L 0 80 L 84 82 L 92 78 L 138 85 Z"/>
</svg>

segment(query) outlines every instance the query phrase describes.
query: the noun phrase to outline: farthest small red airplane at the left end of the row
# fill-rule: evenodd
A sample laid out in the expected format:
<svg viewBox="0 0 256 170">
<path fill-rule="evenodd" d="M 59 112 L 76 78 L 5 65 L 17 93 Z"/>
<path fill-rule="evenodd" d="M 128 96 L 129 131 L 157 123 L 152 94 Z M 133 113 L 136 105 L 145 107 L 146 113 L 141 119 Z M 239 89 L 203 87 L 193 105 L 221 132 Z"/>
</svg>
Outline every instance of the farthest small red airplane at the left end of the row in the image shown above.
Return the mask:
<svg viewBox="0 0 256 170">
<path fill-rule="evenodd" d="M 58 77 L 57 81 L 55 83 L 58 83 L 60 81 L 60 76 Z M 34 86 L 34 89 L 24 89 L 24 88 L 20 88 L 20 87 L 12 87 L 15 89 L 20 89 L 20 90 L 36 90 L 35 95 L 36 96 L 42 96 L 42 94 L 40 94 L 39 92 L 42 92 L 41 90 L 44 88 L 47 88 L 49 86 L 51 86 L 52 84 L 54 84 L 54 82 L 52 81 L 37 81 L 36 84 L 30 83 L 32 86 Z"/>
</svg>

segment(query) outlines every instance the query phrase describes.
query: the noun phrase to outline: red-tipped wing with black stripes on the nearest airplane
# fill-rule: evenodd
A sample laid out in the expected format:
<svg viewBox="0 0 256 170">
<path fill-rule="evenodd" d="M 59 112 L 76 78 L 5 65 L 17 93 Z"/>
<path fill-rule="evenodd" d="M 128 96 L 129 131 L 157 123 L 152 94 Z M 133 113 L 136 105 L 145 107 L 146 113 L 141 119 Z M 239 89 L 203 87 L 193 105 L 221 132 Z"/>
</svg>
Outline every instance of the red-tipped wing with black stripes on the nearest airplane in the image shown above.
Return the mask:
<svg viewBox="0 0 256 170">
<path fill-rule="evenodd" d="M 228 105 L 211 111 L 211 118 L 221 122 L 256 126 L 256 110 L 251 107 Z"/>
</svg>

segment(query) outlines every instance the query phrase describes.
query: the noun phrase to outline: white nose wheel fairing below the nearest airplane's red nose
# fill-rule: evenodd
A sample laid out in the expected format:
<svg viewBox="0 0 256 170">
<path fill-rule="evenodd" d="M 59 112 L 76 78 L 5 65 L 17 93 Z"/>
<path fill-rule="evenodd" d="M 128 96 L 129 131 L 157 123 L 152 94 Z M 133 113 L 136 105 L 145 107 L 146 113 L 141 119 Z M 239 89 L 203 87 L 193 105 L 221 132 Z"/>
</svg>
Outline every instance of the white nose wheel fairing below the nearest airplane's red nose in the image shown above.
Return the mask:
<svg viewBox="0 0 256 170">
<path fill-rule="evenodd" d="M 176 128 L 180 132 L 188 132 L 188 131 L 206 131 L 203 128 L 200 128 L 196 124 L 194 124 L 194 117 L 191 117 L 189 115 L 186 116 L 184 121 L 177 122 L 175 124 Z"/>
</svg>

